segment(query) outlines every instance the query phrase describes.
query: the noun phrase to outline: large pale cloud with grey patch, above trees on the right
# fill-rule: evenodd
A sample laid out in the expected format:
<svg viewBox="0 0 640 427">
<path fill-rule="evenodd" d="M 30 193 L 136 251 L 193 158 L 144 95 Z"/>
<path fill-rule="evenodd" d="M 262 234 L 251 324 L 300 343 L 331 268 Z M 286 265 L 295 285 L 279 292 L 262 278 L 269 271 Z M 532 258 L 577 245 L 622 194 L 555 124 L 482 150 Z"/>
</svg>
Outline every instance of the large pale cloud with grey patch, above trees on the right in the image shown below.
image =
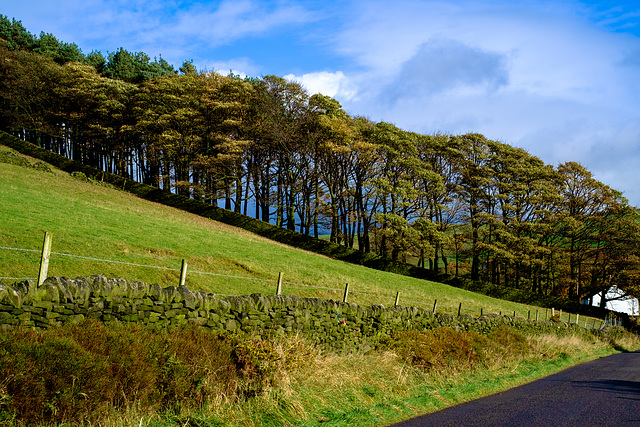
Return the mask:
<svg viewBox="0 0 640 427">
<path fill-rule="evenodd" d="M 640 205 L 640 179 L 619 170 L 640 164 L 640 129 L 629 129 L 640 123 L 637 36 L 608 31 L 577 1 L 367 0 L 350 11 L 333 39 L 359 71 L 359 96 L 337 98 L 345 109 L 575 160 Z"/>
</svg>

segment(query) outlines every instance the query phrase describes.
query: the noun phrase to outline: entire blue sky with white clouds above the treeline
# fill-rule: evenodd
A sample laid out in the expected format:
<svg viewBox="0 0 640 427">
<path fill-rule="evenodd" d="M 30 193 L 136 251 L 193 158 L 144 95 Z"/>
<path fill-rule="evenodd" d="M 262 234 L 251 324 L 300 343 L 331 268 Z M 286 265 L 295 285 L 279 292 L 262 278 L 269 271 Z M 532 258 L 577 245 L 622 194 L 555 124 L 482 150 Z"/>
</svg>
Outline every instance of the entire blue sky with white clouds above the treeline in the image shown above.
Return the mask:
<svg viewBox="0 0 640 427">
<path fill-rule="evenodd" d="M 3 0 L 84 53 L 275 74 L 353 116 L 577 161 L 640 206 L 640 3 Z M 10 4 L 9 4 L 10 3 Z"/>
</svg>

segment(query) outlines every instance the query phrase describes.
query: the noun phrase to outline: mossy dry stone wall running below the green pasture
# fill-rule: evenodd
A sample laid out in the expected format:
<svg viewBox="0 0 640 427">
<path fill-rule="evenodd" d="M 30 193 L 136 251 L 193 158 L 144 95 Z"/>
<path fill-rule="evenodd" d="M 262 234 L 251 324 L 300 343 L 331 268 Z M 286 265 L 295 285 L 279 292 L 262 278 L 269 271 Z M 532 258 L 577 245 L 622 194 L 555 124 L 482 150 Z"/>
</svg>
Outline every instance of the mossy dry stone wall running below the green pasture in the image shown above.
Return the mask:
<svg viewBox="0 0 640 427">
<path fill-rule="evenodd" d="M 414 307 L 360 307 L 293 295 L 221 297 L 187 287 L 161 287 L 102 275 L 50 277 L 13 286 L 0 282 L 0 327 L 47 328 L 92 318 L 153 328 L 199 325 L 216 331 L 299 333 L 326 349 L 370 349 L 385 336 L 407 329 L 449 326 L 488 333 L 499 325 L 545 331 L 575 325 L 532 322 L 507 316 L 450 316 Z"/>
</svg>

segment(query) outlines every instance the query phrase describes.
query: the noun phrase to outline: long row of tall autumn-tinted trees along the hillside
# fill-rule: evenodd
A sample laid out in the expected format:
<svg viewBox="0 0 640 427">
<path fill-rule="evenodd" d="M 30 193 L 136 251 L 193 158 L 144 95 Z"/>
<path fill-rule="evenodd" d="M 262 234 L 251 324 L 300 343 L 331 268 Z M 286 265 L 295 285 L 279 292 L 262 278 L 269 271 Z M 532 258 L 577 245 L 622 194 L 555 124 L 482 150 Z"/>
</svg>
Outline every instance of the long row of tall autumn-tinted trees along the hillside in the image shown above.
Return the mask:
<svg viewBox="0 0 640 427">
<path fill-rule="evenodd" d="M 0 17 L 0 109 L 43 148 L 364 252 L 578 301 L 638 283 L 638 213 L 583 166 L 352 117 L 277 76 L 85 56 Z"/>
</svg>

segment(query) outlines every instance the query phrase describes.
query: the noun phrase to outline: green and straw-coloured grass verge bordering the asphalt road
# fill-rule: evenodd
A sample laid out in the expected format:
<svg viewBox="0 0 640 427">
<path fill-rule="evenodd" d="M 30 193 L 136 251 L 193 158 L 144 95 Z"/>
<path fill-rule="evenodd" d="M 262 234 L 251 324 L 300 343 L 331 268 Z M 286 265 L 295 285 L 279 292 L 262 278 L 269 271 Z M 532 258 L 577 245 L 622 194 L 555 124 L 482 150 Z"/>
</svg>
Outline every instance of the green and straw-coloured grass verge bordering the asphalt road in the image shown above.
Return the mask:
<svg viewBox="0 0 640 427">
<path fill-rule="evenodd" d="M 616 352 L 608 339 L 586 336 L 526 340 L 528 351 L 520 355 L 499 351 L 489 343 L 493 355 L 475 367 L 449 359 L 446 368 L 425 370 L 393 351 L 322 358 L 314 374 L 299 378 L 288 393 L 263 397 L 260 405 L 254 404 L 244 425 L 384 426 Z M 637 338 L 631 340 L 633 348 L 638 348 Z M 291 411 L 291 402 L 309 409 Z"/>
</svg>

